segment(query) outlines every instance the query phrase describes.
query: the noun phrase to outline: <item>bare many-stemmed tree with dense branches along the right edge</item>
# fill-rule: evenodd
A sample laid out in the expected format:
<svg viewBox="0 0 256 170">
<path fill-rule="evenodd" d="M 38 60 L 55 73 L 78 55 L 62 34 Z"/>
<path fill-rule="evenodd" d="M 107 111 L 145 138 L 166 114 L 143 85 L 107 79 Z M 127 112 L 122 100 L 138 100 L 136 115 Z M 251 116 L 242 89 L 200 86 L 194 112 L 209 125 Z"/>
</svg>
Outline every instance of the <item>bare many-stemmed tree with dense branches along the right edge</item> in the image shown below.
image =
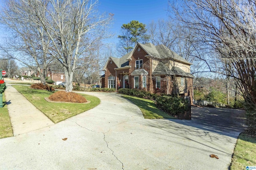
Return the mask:
<svg viewBox="0 0 256 170">
<path fill-rule="evenodd" d="M 255 1 L 189 0 L 172 10 L 202 47 L 224 63 L 216 64 L 219 72 L 235 78 L 246 102 L 248 131 L 256 133 Z"/>
</svg>

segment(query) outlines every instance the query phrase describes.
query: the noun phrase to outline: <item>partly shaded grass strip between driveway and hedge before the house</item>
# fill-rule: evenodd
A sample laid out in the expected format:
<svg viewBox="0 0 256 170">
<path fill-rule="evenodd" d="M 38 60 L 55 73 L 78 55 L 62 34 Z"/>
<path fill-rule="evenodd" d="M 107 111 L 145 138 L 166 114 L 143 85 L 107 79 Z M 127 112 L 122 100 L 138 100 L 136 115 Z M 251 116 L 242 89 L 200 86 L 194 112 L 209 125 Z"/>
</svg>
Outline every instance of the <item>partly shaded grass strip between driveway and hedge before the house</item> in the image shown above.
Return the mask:
<svg viewBox="0 0 256 170">
<path fill-rule="evenodd" d="M 164 111 L 159 110 L 156 107 L 156 104 L 154 103 L 154 101 L 152 100 L 137 98 L 137 97 L 128 96 L 128 95 L 122 95 L 122 96 L 130 100 L 131 102 L 133 102 L 135 105 L 137 105 L 140 108 L 145 119 L 162 119 L 162 118 L 176 119 L 175 117 L 168 115 Z"/>
</svg>

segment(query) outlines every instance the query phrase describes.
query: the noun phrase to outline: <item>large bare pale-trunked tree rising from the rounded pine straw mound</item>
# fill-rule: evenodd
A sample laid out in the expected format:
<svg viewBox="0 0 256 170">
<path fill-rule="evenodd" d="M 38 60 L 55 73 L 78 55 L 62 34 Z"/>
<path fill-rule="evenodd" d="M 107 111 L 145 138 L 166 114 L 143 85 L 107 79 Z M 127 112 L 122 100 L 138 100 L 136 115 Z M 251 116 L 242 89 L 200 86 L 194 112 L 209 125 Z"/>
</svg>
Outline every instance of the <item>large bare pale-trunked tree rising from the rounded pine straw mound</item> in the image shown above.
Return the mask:
<svg viewBox="0 0 256 170">
<path fill-rule="evenodd" d="M 11 0 L 10 4 L 19 2 Z M 18 20 L 28 23 L 28 30 L 32 27 L 42 30 L 40 38 L 50 42 L 46 51 L 64 67 L 66 92 L 71 92 L 77 62 L 107 37 L 106 29 L 113 14 L 98 14 L 98 0 L 23 0 L 21 4 L 19 10 L 24 15 Z"/>
</svg>

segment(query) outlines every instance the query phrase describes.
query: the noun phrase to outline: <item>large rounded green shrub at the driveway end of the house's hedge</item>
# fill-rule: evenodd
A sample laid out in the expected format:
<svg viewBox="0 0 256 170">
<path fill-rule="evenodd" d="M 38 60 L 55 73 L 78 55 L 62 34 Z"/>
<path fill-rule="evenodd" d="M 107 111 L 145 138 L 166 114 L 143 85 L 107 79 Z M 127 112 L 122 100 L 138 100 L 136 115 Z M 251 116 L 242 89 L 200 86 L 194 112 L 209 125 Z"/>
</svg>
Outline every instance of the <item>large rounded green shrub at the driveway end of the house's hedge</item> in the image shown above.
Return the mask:
<svg viewBox="0 0 256 170">
<path fill-rule="evenodd" d="M 167 114 L 178 117 L 188 110 L 188 100 L 178 96 L 160 96 L 156 98 L 156 106 Z"/>
</svg>

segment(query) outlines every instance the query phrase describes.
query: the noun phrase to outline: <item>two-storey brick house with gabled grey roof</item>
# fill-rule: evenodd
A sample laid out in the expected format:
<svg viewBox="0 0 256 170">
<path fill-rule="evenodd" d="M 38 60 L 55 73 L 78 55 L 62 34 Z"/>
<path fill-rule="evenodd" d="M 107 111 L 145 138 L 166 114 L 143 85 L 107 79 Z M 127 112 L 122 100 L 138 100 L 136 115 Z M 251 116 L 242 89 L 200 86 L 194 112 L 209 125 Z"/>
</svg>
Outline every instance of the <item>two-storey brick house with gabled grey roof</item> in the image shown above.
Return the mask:
<svg viewBox="0 0 256 170">
<path fill-rule="evenodd" d="M 136 88 L 150 93 L 178 94 L 193 101 L 190 65 L 164 45 L 137 43 L 121 58 L 110 57 L 103 70 L 102 87 Z"/>
</svg>

